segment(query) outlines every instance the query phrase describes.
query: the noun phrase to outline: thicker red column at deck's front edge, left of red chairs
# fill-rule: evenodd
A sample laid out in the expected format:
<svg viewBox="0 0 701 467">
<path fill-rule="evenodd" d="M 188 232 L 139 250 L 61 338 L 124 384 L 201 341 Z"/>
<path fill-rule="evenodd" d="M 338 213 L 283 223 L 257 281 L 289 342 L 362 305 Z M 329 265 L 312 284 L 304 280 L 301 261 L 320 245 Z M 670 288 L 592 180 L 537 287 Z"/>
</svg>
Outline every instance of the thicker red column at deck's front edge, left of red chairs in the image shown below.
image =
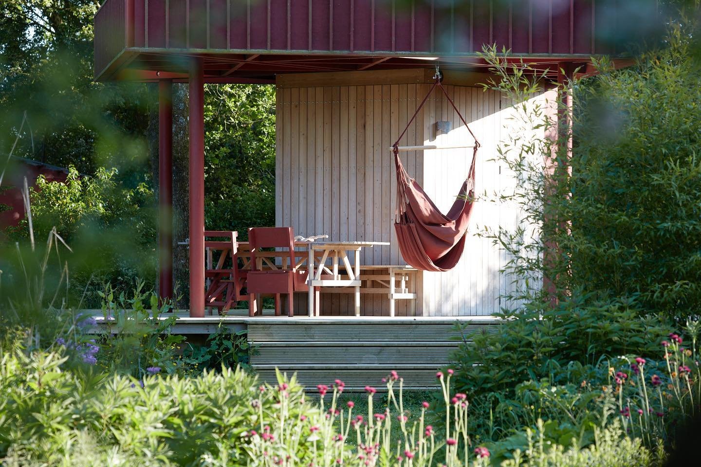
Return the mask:
<svg viewBox="0 0 701 467">
<path fill-rule="evenodd" d="M 205 316 L 205 88 L 202 59 L 190 69 L 190 316 Z"/>
</svg>

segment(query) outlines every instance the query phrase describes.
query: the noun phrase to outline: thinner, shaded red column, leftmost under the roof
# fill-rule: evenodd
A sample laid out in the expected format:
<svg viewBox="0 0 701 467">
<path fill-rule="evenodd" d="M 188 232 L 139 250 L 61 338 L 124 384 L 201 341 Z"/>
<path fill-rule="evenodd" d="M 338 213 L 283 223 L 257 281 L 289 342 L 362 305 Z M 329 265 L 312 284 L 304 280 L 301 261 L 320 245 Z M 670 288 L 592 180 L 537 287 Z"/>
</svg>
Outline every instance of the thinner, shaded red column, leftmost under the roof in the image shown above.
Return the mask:
<svg viewBox="0 0 701 467">
<path fill-rule="evenodd" d="M 173 295 L 172 81 L 158 82 L 158 295 Z"/>
</svg>

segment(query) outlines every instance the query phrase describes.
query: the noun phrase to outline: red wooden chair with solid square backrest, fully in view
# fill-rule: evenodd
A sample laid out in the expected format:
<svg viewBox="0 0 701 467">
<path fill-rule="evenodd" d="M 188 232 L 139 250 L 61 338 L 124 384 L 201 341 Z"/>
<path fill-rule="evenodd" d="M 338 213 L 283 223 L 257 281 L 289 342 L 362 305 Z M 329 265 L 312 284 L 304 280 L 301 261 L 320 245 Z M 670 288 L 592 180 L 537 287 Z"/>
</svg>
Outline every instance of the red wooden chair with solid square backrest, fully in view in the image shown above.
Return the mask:
<svg viewBox="0 0 701 467">
<path fill-rule="evenodd" d="M 258 295 L 273 294 L 275 316 L 280 316 L 280 295 L 285 293 L 288 314 L 294 316 L 292 293 L 309 290 L 306 284 L 307 270 L 302 270 L 295 263 L 294 231 L 291 227 L 250 228 L 248 242 L 251 250 L 251 270 L 248 271 L 246 283 L 250 296 L 248 314 L 254 316 Z M 261 251 L 264 248 L 279 249 L 275 257 L 280 258 L 280 263 L 264 258 L 264 252 Z M 256 253 L 259 258 L 256 258 Z M 264 261 L 269 269 L 263 268 Z"/>
</svg>

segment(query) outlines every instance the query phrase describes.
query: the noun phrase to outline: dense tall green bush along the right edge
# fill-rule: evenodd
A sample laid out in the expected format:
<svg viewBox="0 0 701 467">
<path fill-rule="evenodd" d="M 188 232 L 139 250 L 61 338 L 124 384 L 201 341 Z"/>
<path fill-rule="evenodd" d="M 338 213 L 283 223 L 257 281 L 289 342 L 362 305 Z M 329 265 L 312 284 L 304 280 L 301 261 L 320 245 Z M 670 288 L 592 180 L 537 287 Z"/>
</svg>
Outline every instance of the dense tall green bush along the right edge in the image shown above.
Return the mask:
<svg viewBox="0 0 701 467">
<path fill-rule="evenodd" d="M 679 318 L 701 314 L 701 67 L 689 29 L 577 85 L 572 235 L 560 236 L 571 284 Z"/>
</svg>

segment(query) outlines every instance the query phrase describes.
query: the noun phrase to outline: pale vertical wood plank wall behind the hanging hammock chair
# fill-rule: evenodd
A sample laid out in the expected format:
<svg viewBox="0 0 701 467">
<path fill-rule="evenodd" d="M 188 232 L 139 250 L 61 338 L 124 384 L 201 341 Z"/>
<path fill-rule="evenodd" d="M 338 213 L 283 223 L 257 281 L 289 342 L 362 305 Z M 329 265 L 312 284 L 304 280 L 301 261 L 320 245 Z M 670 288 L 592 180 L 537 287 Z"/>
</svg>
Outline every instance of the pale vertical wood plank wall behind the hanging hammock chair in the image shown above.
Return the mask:
<svg viewBox="0 0 701 467">
<path fill-rule="evenodd" d="M 390 242 L 365 249 L 363 264 L 404 264 L 393 226 L 396 202 L 394 162 L 388 147 L 428 92 L 427 83 L 278 87 L 276 99 L 275 222 L 292 225 L 295 235 L 327 234 L 331 240 Z M 454 270 L 418 275 L 416 314 L 423 316 L 489 315 L 512 287 L 500 273 L 509 258 L 490 239 L 477 237 L 485 227 L 514 225 L 512 204 L 494 202 L 494 193 L 515 183 L 512 174 L 492 160 L 509 125 L 510 103 L 494 91 L 447 85 L 446 89 L 482 143 L 477 156 L 475 204 L 463 258 Z M 451 132 L 436 132 L 448 120 Z M 454 109 L 434 92 L 400 144 L 471 143 Z M 442 211 L 447 211 L 468 173 L 471 149 L 402 153 L 411 176 Z M 487 201 L 484 195 L 489 195 Z M 297 314 L 306 313 L 306 294 L 297 294 Z M 388 298 L 361 295 L 362 314 L 387 315 Z M 501 306 L 507 304 L 501 303 Z M 396 313 L 411 314 L 407 302 Z M 346 294 L 322 294 L 322 314 L 353 314 Z"/>
</svg>

